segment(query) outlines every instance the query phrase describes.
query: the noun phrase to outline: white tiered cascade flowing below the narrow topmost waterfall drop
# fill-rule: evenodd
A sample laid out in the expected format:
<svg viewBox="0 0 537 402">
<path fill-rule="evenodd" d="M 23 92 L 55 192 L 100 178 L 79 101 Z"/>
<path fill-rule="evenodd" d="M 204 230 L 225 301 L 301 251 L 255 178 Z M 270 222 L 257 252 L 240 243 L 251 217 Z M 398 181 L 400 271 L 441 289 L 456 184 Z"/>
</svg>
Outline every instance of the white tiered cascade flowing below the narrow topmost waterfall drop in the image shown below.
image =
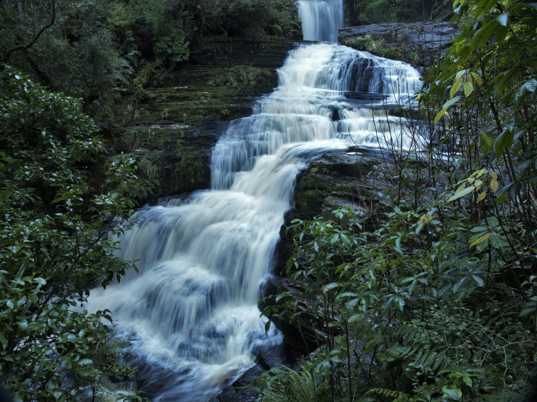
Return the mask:
<svg viewBox="0 0 537 402">
<path fill-rule="evenodd" d="M 257 351 L 281 343 L 257 302 L 301 169 L 353 142 L 413 146 L 382 111 L 419 88 L 407 64 L 319 43 L 294 49 L 278 74 L 278 88 L 214 147 L 212 188 L 140 210 L 118 254 L 139 272 L 91 293 L 89 309 L 111 310 L 129 337 L 137 381 L 155 401 L 211 401 Z"/>
</svg>

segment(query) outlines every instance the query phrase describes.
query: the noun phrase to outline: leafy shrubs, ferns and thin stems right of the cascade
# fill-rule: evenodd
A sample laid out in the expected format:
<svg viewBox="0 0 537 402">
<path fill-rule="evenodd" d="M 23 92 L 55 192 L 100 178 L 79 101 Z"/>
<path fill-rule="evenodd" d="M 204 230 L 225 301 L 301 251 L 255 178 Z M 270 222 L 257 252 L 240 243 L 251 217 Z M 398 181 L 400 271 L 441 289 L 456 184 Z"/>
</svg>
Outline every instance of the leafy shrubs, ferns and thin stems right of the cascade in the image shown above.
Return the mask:
<svg viewBox="0 0 537 402">
<path fill-rule="evenodd" d="M 313 303 L 265 313 L 314 313 L 326 338 L 301 373 L 266 374 L 263 400 L 534 400 L 537 9 L 454 9 L 418 94 L 427 149 L 387 156 L 391 212 L 369 231 L 349 209 L 293 222 L 287 274 Z"/>
</svg>

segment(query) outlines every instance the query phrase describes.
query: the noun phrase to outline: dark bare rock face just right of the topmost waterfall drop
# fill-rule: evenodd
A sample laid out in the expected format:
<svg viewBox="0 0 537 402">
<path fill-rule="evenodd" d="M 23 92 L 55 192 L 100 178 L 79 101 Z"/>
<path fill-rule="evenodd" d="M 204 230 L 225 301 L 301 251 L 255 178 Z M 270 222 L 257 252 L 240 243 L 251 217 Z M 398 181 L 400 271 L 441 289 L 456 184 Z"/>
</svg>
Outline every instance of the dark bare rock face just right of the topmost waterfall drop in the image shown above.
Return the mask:
<svg viewBox="0 0 537 402">
<path fill-rule="evenodd" d="M 373 40 L 384 41 L 384 46 L 400 50 L 403 61 L 429 67 L 446 53 L 456 32 L 456 27 L 445 21 L 375 24 L 343 28 L 339 30 L 339 41 L 371 35 Z"/>
</svg>

